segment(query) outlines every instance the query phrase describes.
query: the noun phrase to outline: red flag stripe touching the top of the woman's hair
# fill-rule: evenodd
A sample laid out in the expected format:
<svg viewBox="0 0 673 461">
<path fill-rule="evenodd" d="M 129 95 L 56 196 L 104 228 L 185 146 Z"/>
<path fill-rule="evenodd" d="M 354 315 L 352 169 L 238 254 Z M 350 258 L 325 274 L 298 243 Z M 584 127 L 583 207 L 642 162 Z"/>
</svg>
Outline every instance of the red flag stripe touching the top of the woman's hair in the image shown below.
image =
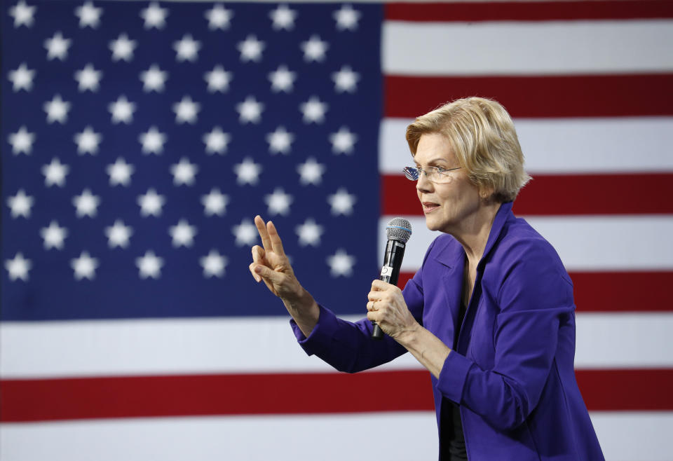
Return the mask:
<svg viewBox="0 0 673 461">
<path fill-rule="evenodd" d="M 496 99 L 512 117 L 673 115 L 673 74 L 395 76 L 385 79 L 386 117 L 414 118 L 461 97 Z M 522 97 L 525 95 L 525 97 Z M 547 101 L 548 104 L 541 104 Z M 552 103 L 553 102 L 553 103 Z"/>
</svg>

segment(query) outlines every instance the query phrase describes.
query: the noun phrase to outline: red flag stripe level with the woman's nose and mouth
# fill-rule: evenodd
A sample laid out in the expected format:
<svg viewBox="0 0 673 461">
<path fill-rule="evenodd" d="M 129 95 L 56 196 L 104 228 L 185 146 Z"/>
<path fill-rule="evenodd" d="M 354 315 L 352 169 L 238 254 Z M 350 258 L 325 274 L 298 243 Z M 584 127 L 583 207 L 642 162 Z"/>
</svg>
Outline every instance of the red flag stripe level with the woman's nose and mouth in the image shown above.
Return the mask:
<svg viewBox="0 0 673 461">
<path fill-rule="evenodd" d="M 514 212 L 526 216 L 672 214 L 673 173 L 536 174 L 519 193 Z M 416 183 L 381 178 L 386 215 L 422 216 Z"/>
</svg>

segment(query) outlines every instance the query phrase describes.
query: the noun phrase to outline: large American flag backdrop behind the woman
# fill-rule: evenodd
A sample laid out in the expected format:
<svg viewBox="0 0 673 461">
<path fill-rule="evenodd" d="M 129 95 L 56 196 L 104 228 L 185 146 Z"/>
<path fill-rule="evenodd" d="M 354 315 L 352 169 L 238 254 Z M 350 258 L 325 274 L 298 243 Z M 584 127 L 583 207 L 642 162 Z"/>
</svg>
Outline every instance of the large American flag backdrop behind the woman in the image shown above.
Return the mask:
<svg viewBox="0 0 673 461">
<path fill-rule="evenodd" d="M 468 95 L 515 118 L 606 458 L 671 459 L 672 1 L 1 5 L 2 460 L 433 459 L 428 373 L 306 357 L 247 265 L 261 214 L 359 318 L 405 216 L 404 284 L 405 127 Z"/>
</svg>

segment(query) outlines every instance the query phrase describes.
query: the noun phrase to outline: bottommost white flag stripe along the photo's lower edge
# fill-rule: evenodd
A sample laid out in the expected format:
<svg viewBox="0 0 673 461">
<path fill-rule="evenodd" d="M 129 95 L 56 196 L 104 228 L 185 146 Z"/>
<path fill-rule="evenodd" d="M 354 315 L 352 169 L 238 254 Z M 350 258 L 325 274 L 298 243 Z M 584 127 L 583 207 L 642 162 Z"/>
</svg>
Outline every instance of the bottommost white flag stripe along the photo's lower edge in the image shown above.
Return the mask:
<svg viewBox="0 0 673 461">
<path fill-rule="evenodd" d="M 607 461 L 670 460 L 673 412 L 594 411 L 591 418 Z M 54 453 L 68 461 L 281 461 L 295 460 L 299 453 L 320 453 L 325 461 L 437 456 L 430 411 L 38 422 L 0 429 L 3 460 L 43 461 Z M 376 434 L 386 434 L 386 443 L 372 442 Z"/>
</svg>

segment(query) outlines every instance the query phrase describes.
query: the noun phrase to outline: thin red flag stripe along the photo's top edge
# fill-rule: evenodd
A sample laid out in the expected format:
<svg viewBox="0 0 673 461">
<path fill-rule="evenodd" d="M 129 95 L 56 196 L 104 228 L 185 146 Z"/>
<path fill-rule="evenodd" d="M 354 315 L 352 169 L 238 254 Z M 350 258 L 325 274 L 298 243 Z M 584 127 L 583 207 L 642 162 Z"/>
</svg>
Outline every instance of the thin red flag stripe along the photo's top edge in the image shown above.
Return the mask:
<svg viewBox="0 0 673 461">
<path fill-rule="evenodd" d="M 386 20 L 414 22 L 673 18 L 673 1 L 526 1 L 386 4 Z"/>
</svg>

